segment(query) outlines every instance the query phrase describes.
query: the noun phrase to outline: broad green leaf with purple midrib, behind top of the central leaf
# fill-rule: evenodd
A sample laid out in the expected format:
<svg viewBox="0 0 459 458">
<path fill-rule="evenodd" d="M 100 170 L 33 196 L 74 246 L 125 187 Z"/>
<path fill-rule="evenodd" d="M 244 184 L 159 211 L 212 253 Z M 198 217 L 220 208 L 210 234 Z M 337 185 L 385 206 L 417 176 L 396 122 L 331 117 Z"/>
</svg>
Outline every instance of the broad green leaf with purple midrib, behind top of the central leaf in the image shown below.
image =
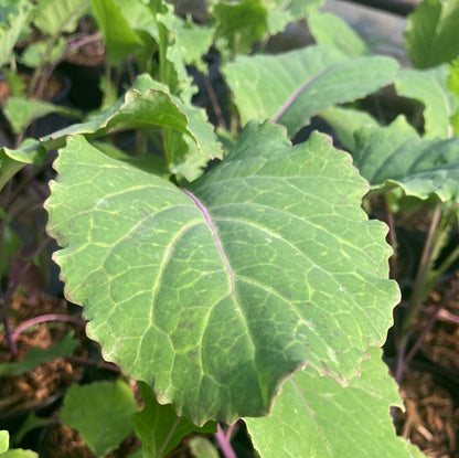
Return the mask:
<svg viewBox="0 0 459 458">
<path fill-rule="evenodd" d="M 397 68 L 391 57 L 350 60 L 332 46 L 308 46 L 278 55 L 239 56 L 224 67 L 224 75 L 243 125 L 276 119 L 292 136 L 319 111 L 389 84 Z"/>
</svg>

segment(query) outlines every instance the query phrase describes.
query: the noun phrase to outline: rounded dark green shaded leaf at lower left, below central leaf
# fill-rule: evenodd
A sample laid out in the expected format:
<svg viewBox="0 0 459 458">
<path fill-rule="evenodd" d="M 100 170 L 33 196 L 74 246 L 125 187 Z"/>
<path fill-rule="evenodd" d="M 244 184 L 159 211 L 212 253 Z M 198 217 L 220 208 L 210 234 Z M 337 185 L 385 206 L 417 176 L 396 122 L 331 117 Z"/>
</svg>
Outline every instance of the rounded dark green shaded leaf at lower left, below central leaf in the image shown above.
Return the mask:
<svg viewBox="0 0 459 458">
<path fill-rule="evenodd" d="M 61 419 L 83 436 L 97 457 L 105 457 L 132 432 L 131 415 L 138 409 L 132 391 L 120 379 L 75 384 L 65 394 Z"/>
</svg>

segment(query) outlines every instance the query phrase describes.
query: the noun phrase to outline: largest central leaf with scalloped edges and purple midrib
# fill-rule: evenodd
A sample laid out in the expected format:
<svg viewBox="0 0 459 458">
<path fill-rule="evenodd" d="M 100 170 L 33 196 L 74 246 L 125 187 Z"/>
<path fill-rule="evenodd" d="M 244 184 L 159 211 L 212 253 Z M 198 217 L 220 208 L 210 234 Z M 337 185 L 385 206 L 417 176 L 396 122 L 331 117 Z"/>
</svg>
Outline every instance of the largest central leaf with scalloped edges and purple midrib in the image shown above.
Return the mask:
<svg viewBox="0 0 459 458">
<path fill-rule="evenodd" d="M 305 365 L 345 382 L 384 341 L 398 300 L 386 227 L 327 136 L 291 147 L 282 127 L 250 123 L 186 190 L 78 136 L 55 168 L 66 296 L 107 360 L 196 425 L 268 413 Z"/>
</svg>

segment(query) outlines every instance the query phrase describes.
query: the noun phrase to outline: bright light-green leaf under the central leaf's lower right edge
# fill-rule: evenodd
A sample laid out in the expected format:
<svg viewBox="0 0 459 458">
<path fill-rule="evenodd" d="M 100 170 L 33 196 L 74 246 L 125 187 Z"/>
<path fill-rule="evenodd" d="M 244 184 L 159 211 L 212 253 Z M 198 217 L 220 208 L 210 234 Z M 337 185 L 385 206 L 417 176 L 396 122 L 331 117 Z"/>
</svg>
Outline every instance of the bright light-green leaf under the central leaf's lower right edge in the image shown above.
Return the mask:
<svg viewBox="0 0 459 458">
<path fill-rule="evenodd" d="M 282 386 L 271 414 L 245 418 L 255 448 L 264 458 L 424 457 L 395 435 L 391 405 L 399 397 L 380 349 L 370 349 L 362 374 L 342 386 L 311 368 L 296 372 Z M 282 432 L 282 434 L 279 434 Z"/>
</svg>

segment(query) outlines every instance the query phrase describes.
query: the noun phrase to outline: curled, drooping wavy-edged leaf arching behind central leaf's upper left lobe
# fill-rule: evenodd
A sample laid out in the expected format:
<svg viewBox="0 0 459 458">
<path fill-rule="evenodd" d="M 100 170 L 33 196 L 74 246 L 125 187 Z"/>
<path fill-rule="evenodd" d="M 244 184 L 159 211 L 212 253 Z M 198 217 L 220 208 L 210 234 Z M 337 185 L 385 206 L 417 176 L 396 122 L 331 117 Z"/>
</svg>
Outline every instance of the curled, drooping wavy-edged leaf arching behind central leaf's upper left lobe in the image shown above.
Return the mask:
<svg viewBox="0 0 459 458">
<path fill-rule="evenodd" d="M 35 107 L 35 104 L 33 103 L 31 107 Z M 39 104 L 39 107 L 42 105 Z M 18 113 L 18 123 L 22 121 L 20 116 L 24 114 L 28 115 L 26 111 Z M 146 129 L 148 132 L 151 127 L 167 128 L 166 156 L 169 168 L 173 173 L 179 173 L 189 181 L 199 177 L 202 168 L 211 159 L 223 156 L 213 127 L 203 109 L 171 96 L 167 86 L 154 82 L 151 76 L 140 75 L 134 88 L 127 90 L 124 97 L 104 111 L 89 116 L 84 123 L 74 124 L 41 138 L 33 145 L 21 146 L 18 150 L 0 148 L 1 156 L 6 155 L 14 159 L 7 163 L 2 162 L 0 184 L 23 167 L 21 161 L 30 163 L 33 158 L 33 163 L 40 163 L 42 148 L 61 148 L 68 136 L 78 134 L 102 136 L 110 129 L 121 128 Z M 11 167 L 7 168 L 7 166 Z"/>
</svg>

